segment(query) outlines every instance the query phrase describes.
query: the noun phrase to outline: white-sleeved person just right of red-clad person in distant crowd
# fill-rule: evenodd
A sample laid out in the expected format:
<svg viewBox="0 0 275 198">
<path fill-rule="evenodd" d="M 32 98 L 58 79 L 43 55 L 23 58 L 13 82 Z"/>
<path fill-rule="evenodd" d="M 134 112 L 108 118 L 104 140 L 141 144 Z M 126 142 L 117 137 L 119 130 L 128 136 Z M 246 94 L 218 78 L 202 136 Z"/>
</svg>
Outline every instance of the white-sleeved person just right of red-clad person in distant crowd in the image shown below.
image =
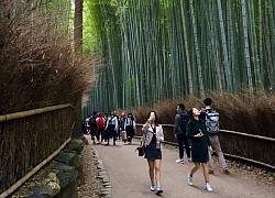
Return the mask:
<svg viewBox="0 0 275 198">
<path fill-rule="evenodd" d="M 108 130 L 108 139 L 106 145 L 109 145 L 109 141 L 111 138 L 113 139 L 113 145 L 116 145 L 118 127 L 119 127 L 118 118 L 114 116 L 114 112 L 111 111 L 106 123 L 106 130 Z"/>
</svg>

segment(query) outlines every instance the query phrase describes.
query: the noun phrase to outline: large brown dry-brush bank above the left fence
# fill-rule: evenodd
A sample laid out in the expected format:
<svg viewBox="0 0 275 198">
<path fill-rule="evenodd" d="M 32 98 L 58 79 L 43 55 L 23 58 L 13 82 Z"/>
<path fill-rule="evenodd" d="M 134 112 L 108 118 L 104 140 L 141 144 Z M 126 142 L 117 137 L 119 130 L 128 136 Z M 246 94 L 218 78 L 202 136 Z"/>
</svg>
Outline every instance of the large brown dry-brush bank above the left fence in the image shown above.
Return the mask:
<svg viewBox="0 0 275 198">
<path fill-rule="evenodd" d="M 15 10 L 12 3 L 3 2 L 0 3 L 0 111 L 75 103 L 95 79 L 90 68 L 92 58 L 74 52 L 69 29 L 53 23 L 56 15 L 48 12 L 38 18 L 35 10 L 30 14 L 28 9 Z M 16 11 L 13 15 L 12 9 Z"/>
</svg>

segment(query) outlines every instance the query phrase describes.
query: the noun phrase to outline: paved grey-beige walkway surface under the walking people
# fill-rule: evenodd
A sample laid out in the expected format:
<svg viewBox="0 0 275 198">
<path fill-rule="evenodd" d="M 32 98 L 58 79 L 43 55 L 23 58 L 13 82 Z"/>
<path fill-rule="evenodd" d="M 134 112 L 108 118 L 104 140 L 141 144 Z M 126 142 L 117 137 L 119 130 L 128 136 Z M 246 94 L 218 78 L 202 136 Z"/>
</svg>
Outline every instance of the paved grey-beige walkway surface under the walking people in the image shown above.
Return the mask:
<svg viewBox="0 0 275 198">
<path fill-rule="evenodd" d="M 111 142 L 110 142 L 111 143 Z M 133 141 L 132 145 L 117 141 L 117 145 L 109 146 L 95 145 L 100 158 L 107 169 L 112 183 L 113 198 L 146 198 L 156 197 L 150 191 L 150 178 L 147 163 L 143 157 L 139 157 L 135 147 L 139 142 Z M 194 176 L 194 185 L 188 186 L 187 174 L 193 164 L 177 164 L 175 161 L 178 153 L 175 148 L 164 147 L 162 162 L 162 186 L 164 193 L 161 197 L 167 198 L 194 198 L 194 197 L 240 197 L 274 198 L 275 189 L 256 184 L 245 175 L 240 175 L 231 170 L 230 175 L 224 175 L 216 168 L 216 174 L 210 175 L 212 193 L 205 189 L 202 172 L 199 169 Z"/>
</svg>

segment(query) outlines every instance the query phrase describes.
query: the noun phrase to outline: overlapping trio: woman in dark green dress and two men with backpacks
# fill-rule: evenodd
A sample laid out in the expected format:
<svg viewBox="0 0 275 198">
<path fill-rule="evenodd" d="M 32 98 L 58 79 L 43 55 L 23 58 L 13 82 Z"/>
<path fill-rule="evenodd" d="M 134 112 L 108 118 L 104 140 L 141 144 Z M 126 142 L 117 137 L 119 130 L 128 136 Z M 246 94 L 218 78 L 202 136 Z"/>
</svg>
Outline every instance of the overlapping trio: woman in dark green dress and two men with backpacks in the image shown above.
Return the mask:
<svg viewBox="0 0 275 198">
<path fill-rule="evenodd" d="M 175 117 L 175 135 L 178 139 L 179 160 L 176 162 L 184 163 L 184 146 L 187 153 L 187 161 L 194 162 L 194 167 L 188 174 L 188 184 L 193 186 L 193 176 L 202 167 L 206 182 L 206 189 L 212 191 L 209 184 L 209 174 L 213 174 L 211 153 L 215 151 L 219 157 L 221 167 L 224 174 L 230 174 L 227 163 L 221 151 L 218 133 L 219 133 L 219 113 L 212 110 L 211 98 L 204 100 L 205 109 L 201 111 L 197 108 L 191 108 L 187 112 L 185 106 L 177 106 L 178 114 Z M 189 120 L 188 120 L 189 118 Z M 191 151 L 189 148 L 188 139 L 191 141 Z"/>
</svg>

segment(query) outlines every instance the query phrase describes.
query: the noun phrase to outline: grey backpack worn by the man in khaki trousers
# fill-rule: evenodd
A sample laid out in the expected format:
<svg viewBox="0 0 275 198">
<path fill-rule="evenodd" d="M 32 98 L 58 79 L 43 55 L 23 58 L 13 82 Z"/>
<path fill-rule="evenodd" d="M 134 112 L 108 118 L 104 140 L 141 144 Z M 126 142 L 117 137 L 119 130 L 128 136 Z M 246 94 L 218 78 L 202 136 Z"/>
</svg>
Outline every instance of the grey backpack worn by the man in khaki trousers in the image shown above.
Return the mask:
<svg viewBox="0 0 275 198">
<path fill-rule="evenodd" d="M 219 118 L 220 114 L 210 109 L 210 110 L 206 110 L 206 127 L 207 127 L 207 131 L 211 134 L 217 134 L 220 131 L 220 123 L 219 123 Z"/>
</svg>

